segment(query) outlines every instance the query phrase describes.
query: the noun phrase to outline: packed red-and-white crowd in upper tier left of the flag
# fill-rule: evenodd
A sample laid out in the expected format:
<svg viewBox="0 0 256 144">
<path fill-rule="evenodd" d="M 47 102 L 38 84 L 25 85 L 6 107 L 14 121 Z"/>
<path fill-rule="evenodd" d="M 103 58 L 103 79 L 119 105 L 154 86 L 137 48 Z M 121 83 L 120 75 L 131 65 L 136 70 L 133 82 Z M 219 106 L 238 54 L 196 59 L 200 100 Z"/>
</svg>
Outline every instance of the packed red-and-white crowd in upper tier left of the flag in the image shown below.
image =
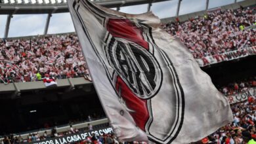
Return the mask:
<svg viewBox="0 0 256 144">
<path fill-rule="evenodd" d="M 88 75 L 75 35 L 50 35 L 34 39 L 0 41 L 0 82 L 40 81 Z"/>
</svg>

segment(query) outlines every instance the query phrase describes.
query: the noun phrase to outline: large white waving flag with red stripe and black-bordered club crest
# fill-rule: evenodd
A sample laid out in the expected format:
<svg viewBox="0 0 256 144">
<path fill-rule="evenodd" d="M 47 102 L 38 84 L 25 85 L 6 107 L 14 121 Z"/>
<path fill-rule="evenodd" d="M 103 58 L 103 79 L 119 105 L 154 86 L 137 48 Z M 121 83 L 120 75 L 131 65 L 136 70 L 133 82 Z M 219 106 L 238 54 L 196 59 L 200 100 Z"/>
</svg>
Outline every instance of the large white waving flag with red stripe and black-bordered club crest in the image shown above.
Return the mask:
<svg viewBox="0 0 256 144">
<path fill-rule="evenodd" d="M 232 121 L 228 100 L 151 12 L 69 0 L 105 113 L 121 141 L 190 143 Z"/>
</svg>

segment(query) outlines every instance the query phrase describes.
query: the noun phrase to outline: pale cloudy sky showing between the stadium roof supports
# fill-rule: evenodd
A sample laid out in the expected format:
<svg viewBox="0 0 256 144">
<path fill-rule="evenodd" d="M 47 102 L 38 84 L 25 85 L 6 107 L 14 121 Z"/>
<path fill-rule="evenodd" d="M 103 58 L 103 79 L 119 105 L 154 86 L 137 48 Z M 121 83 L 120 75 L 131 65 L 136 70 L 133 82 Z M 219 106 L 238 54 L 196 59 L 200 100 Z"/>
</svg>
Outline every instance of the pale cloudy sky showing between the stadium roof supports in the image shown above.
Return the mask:
<svg viewBox="0 0 256 144">
<path fill-rule="evenodd" d="M 243 1 L 243 0 L 238 0 Z M 151 10 L 160 18 L 175 16 L 178 0 L 153 3 Z M 234 3 L 234 0 L 209 0 L 209 9 Z M 180 14 L 188 14 L 205 9 L 205 0 L 182 0 Z M 146 12 L 148 5 L 135 5 L 121 7 L 121 12 L 139 14 Z M 47 14 L 16 14 L 11 19 L 9 37 L 21 37 L 28 35 L 43 34 Z M 0 37 L 5 32 L 7 15 L 0 14 Z M 49 24 L 48 33 L 66 33 L 75 31 L 69 13 L 53 14 Z"/>
</svg>

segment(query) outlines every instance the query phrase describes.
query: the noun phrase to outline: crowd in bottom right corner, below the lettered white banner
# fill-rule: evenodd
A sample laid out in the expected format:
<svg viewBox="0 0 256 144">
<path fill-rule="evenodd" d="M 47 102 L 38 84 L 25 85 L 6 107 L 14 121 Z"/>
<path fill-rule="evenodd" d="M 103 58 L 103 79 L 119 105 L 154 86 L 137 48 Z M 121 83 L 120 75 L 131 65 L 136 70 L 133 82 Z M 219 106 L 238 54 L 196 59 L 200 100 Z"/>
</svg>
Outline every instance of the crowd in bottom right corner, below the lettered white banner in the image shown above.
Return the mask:
<svg viewBox="0 0 256 144">
<path fill-rule="evenodd" d="M 250 96 L 247 101 L 234 103 L 231 109 L 234 115 L 232 123 L 196 143 L 245 144 L 251 139 L 256 141 L 255 97 Z"/>
</svg>

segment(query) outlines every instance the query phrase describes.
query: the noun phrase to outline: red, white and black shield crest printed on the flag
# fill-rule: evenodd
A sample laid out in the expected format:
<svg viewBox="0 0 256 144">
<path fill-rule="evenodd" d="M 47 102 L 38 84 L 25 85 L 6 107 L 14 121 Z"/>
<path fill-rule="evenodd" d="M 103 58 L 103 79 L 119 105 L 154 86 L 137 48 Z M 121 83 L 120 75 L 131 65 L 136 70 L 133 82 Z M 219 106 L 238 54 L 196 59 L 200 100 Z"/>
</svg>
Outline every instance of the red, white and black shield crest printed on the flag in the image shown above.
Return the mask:
<svg viewBox="0 0 256 144">
<path fill-rule="evenodd" d="M 102 49 L 93 44 L 79 5 L 90 9 L 106 29 Z M 144 20 L 108 14 L 88 1 L 75 1 L 73 7 L 112 88 L 136 125 L 151 141 L 171 143 L 182 127 L 184 94 L 170 56 L 154 41 L 152 27 Z M 159 115 L 163 111 L 168 116 Z M 166 126 L 156 131 L 160 122 Z"/>
</svg>

